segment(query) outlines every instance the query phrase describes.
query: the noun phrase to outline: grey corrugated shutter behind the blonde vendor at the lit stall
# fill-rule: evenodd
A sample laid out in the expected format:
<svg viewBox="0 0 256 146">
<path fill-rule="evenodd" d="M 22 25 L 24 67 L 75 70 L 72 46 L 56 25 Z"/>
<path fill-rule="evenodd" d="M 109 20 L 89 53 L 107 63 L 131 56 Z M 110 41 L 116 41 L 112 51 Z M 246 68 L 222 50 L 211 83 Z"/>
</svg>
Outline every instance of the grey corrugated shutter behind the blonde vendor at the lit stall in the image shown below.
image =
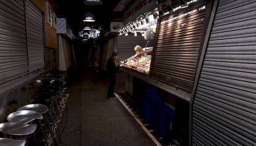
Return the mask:
<svg viewBox="0 0 256 146">
<path fill-rule="evenodd" d="M 117 36 L 117 52 L 119 60 L 129 59 L 135 55 L 134 47 L 140 45 L 145 47 L 147 41 L 142 36 Z"/>
</svg>

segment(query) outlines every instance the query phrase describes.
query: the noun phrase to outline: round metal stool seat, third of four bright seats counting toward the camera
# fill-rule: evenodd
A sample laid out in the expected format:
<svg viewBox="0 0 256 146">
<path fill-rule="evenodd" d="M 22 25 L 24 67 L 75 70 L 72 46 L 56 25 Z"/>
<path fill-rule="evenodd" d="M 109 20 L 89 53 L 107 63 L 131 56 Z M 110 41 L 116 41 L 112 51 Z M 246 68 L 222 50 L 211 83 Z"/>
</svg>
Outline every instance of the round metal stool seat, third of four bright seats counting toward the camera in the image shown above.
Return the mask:
<svg viewBox="0 0 256 146">
<path fill-rule="evenodd" d="M 14 135 L 14 136 L 26 136 L 32 134 L 36 130 L 36 124 L 24 124 L 24 123 L 1 123 L 0 132 Z"/>
</svg>

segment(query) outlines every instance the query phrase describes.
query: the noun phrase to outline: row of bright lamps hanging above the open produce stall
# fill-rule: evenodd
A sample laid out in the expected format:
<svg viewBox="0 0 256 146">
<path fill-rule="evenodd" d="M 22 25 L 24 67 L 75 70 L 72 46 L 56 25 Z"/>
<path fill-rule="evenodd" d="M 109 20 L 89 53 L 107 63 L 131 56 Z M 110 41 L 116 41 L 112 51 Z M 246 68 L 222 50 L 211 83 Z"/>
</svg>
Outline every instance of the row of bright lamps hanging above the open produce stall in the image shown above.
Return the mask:
<svg viewBox="0 0 256 146">
<path fill-rule="evenodd" d="M 151 25 L 156 26 L 155 24 L 157 19 L 158 19 L 158 12 L 148 15 L 148 17 L 146 18 L 140 17 L 134 22 L 130 22 L 126 26 L 122 26 L 121 28 L 119 28 L 118 30 L 119 35 L 125 34 L 127 36 L 129 32 L 134 32 L 134 36 L 137 36 L 137 33 L 135 33 L 136 31 L 139 31 L 140 33 L 142 33 L 143 32 L 142 30 L 144 28 L 147 28 L 148 26 L 151 26 Z M 150 22 L 154 22 L 154 23 L 152 24 Z"/>
</svg>

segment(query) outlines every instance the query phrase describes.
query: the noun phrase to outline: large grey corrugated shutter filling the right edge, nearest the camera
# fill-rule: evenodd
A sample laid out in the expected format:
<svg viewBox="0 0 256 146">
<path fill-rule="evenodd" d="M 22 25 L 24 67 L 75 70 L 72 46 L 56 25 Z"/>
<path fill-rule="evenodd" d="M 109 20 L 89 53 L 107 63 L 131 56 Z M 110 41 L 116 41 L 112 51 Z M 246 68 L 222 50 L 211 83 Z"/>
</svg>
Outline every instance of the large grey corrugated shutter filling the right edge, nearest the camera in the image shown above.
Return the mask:
<svg viewBox="0 0 256 146">
<path fill-rule="evenodd" d="M 256 1 L 219 1 L 195 92 L 192 145 L 256 145 Z"/>
</svg>

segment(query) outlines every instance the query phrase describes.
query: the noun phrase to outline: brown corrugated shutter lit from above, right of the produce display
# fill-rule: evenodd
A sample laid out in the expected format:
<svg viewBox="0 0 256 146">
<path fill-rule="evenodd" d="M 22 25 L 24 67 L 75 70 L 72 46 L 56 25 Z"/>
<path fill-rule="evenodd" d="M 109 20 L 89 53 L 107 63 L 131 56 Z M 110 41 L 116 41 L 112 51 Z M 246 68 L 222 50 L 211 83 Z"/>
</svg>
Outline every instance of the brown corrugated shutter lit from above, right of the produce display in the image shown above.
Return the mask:
<svg viewBox="0 0 256 146">
<path fill-rule="evenodd" d="M 197 6 L 190 6 L 160 20 L 151 66 L 153 78 L 192 91 L 203 41 L 206 4 L 201 1 Z"/>
</svg>

